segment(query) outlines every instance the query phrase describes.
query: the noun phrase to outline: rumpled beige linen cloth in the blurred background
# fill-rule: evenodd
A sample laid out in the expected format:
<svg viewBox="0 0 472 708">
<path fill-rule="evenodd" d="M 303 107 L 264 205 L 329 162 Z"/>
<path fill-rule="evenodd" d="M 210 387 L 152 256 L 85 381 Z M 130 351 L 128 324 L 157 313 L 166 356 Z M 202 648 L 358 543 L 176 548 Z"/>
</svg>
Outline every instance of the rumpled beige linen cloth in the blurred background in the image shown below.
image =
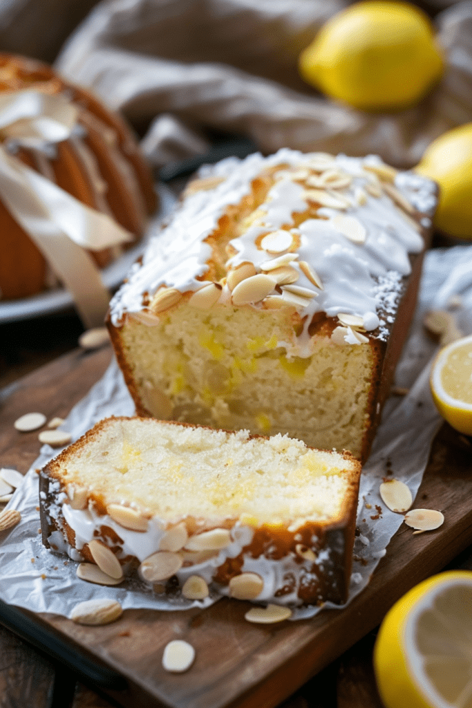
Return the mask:
<svg viewBox="0 0 472 708">
<path fill-rule="evenodd" d="M 362 113 L 299 78 L 297 57 L 343 0 L 108 0 L 57 57 L 140 132 L 156 166 L 205 152 L 207 128 L 280 147 L 380 154 L 415 165 L 427 144 L 472 121 L 472 1 L 436 15 L 442 81 L 401 113 Z"/>
</svg>

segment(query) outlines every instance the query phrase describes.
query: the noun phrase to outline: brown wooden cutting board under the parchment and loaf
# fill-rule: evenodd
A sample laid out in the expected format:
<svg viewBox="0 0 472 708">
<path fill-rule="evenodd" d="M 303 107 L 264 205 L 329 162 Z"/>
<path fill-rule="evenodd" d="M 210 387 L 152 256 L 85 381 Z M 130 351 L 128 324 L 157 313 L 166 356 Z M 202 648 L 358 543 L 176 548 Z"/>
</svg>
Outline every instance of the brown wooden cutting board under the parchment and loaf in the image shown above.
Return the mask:
<svg viewBox="0 0 472 708">
<path fill-rule="evenodd" d="M 110 362 L 104 348 L 74 350 L 0 392 L 0 464 L 26 472 L 40 450 L 37 433 L 18 433 L 13 422 L 28 411 L 67 413 Z M 409 588 L 444 568 L 472 542 L 472 446 L 443 426 L 415 506 L 445 516 L 437 531 L 398 530 L 369 586 L 345 610 L 273 625 L 244 619 L 249 603 L 220 600 L 207 610 L 127 610 L 107 627 L 82 627 L 61 616 L 42 615 L 59 632 L 125 676 L 127 690 L 110 692 L 133 708 L 273 708 L 312 675 L 381 622 Z M 196 649 L 192 668 L 166 673 L 163 647 L 185 639 Z"/>
</svg>

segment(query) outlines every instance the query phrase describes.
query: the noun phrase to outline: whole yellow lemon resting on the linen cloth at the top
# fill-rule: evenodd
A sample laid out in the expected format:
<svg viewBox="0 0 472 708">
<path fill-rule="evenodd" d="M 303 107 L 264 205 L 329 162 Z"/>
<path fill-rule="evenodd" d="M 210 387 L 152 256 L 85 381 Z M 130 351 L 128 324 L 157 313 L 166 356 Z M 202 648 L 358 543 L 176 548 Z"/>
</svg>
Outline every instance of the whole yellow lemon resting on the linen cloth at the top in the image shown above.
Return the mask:
<svg viewBox="0 0 472 708">
<path fill-rule="evenodd" d="M 371 111 L 415 103 L 442 70 L 429 18 L 403 2 L 365 1 L 340 11 L 299 58 L 309 84 Z"/>
</svg>

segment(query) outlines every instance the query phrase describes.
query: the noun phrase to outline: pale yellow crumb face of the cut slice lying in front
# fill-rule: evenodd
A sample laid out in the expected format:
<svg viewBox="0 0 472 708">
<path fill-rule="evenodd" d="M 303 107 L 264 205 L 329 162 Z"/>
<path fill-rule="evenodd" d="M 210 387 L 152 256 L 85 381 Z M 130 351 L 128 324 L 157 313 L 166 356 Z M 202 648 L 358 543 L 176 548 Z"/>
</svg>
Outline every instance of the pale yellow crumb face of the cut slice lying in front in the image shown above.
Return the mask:
<svg viewBox="0 0 472 708">
<path fill-rule="evenodd" d="M 62 470 L 105 506 L 129 503 L 164 520 L 238 518 L 259 523 L 332 520 L 342 512 L 355 463 L 275 435 L 192 428 L 142 418 L 115 421 L 79 447 Z"/>
</svg>

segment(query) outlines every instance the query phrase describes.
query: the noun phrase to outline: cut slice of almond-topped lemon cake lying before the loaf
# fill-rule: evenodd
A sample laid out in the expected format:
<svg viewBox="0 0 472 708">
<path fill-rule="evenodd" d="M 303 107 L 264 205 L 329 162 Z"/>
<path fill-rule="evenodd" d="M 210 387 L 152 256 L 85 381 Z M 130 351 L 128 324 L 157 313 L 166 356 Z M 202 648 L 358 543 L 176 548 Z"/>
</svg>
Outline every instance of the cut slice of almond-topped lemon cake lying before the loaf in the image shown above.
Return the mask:
<svg viewBox="0 0 472 708">
<path fill-rule="evenodd" d="M 343 603 L 359 474 L 287 435 L 107 418 L 42 470 L 43 539 L 189 599 Z"/>
</svg>

